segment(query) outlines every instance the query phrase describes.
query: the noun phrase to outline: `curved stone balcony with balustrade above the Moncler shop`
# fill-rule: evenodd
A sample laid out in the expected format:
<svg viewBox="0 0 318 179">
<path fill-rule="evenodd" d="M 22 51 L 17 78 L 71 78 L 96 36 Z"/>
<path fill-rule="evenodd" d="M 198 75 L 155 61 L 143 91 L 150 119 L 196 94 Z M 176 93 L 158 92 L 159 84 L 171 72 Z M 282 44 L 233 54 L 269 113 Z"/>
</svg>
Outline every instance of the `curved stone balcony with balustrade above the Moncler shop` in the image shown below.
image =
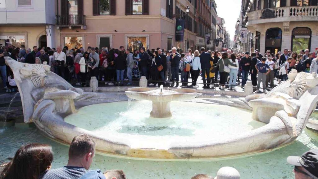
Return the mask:
<svg viewBox="0 0 318 179">
<path fill-rule="evenodd" d="M 249 12 L 247 17 L 246 26 L 274 22 L 318 21 L 318 6 L 262 9 Z"/>
</svg>

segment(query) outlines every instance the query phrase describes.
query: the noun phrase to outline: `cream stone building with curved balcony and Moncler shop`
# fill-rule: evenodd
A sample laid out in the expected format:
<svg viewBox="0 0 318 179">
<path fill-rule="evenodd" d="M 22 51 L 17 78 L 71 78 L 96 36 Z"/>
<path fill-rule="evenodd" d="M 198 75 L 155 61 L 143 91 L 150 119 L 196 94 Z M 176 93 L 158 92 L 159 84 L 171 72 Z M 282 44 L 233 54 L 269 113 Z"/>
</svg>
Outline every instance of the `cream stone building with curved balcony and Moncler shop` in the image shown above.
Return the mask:
<svg viewBox="0 0 318 179">
<path fill-rule="evenodd" d="M 252 34 L 251 49 L 261 53 L 309 49 L 317 53 L 317 0 L 253 0 L 245 4 L 243 22 Z"/>
</svg>

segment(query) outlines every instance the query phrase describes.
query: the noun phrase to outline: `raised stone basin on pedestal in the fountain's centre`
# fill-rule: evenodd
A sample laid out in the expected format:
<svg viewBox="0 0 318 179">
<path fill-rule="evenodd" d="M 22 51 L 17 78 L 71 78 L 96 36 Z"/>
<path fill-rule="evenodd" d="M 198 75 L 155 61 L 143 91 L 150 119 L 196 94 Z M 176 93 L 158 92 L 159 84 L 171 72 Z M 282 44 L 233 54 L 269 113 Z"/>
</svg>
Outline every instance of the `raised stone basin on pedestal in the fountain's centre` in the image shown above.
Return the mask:
<svg viewBox="0 0 318 179">
<path fill-rule="evenodd" d="M 129 88 L 126 95 L 131 99 L 152 101 L 151 117 L 171 117 L 171 101 L 191 100 L 197 96 L 195 89 Z"/>
</svg>

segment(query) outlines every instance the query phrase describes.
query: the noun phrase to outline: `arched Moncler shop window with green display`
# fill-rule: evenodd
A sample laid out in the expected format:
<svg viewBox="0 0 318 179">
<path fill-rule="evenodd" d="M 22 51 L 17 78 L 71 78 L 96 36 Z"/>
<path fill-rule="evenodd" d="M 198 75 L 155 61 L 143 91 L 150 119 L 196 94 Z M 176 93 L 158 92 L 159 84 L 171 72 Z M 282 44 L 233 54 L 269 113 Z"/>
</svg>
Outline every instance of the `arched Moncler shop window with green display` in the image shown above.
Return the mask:
<svg viewBox="0 0 318 179">
<path fill-rule="evenodd" d="M 308 27 L 297 27 L 292 31 L 293 52 L 300 53 L 301 50 L 310 49 L 311 30 Z"/>
</svg>

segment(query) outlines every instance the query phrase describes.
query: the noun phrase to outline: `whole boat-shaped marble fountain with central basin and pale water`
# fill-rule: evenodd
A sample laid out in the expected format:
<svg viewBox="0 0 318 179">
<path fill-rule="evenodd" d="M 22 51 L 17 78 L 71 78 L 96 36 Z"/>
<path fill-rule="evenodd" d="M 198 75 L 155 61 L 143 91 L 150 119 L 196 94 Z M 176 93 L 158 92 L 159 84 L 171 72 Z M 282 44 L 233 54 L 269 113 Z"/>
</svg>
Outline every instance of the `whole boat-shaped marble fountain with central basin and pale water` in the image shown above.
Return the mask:
<svg viewBox="0 0 318 179">
<path fill-rule="evenodd" d="M 194 89 L 130 88 L 126 95 L 141 101 L 136 101 L 133 112 L 116 113 L 123 107 L 119 101 L 127 101 L 127 97 L 84 92 L 50 72 L 48 65 L 5 59 L 20 91 L 25 123 L 35 123 L 46 136 L 66 144 L 85 133 L 93 137 L 97 151 L 114 156 L 198 159 L 280 148 L 301 135 L 318 100 L 316 74 L 301 72 L 288 74 L 288 81 L 266 95 L 245 98 L 206 101 L 194 99 Z M 93 109 L 104 113 L 92 115 Z M 215 116 L 205 115 L 209 110 Z M 211 119 L 207 119 L 209 115 Z M 211 123 L 212 118 L 224 121 L 218 126 Z M 92 127 L 91 123 L 96 124 Z M 255 125 L 251 127 L 251 123 Z M 102 130 L 96 129 L 103 124 Z M 245 127 L 235 131 L 240 128 L 236 125 Z M 182 132 L 176 134 L 175 130 Z M 156 132 L 144 135 L 149 131 Z"/>
</svg>

